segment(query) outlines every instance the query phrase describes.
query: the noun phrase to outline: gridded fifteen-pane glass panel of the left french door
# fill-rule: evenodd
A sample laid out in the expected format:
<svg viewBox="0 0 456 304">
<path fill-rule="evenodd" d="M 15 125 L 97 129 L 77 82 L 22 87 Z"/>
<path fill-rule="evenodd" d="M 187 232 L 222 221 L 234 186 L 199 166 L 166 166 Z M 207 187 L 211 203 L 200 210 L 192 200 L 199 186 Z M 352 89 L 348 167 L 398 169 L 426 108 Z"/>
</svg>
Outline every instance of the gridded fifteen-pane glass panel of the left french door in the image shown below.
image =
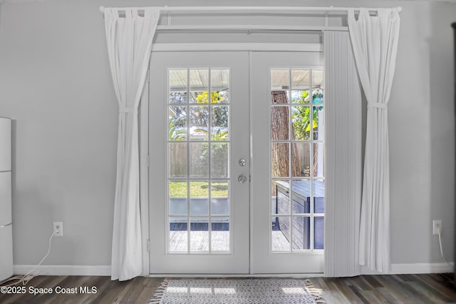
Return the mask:
<svg viewBox="0 0 456 304">
<path fill-rule="evenodd" d="M 170 253 L 230 253 L 229 68 L 168 70 Z"/>
</svg>

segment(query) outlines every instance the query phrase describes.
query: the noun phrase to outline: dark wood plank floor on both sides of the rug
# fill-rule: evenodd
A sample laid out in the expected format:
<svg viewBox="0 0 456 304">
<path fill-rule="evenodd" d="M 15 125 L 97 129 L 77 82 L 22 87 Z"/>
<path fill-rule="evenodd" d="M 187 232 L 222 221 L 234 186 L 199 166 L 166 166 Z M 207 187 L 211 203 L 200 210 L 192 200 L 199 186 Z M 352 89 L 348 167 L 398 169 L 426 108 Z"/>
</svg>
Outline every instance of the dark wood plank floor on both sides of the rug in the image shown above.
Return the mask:
<svg viewBox="0 0 456 304">
<path fill-rule="evenodd" d="M 456 303 L 452 274 L 357 276 L 311 278 L 326 303 Z M 0 303 L 148 303 L 162 278 L 110 281 L 103 276 L 39 276 L 25 287 L 25 294 L 0 293 Z M 56 287 L 77 288 L 77 294 L 56 294 Z M 81 293 L 80 287 L 92 293 Z M 21 285 L 17 285 L 21 287 Z M 95 287 L 96 293 L 93 293 Z M 51 288 L 53 294 L 31 294 L 30 288 Z M 34 289 L 32 289 L 34 290 Z M 68 291 L 71 292 L 69 289 Z M 13 291 L 13 290 L 10 290 Z M 17 291 L 17 290 L 16 290 Z M 43 292 L 44 290 L 36 290 Z"/>
</svg>

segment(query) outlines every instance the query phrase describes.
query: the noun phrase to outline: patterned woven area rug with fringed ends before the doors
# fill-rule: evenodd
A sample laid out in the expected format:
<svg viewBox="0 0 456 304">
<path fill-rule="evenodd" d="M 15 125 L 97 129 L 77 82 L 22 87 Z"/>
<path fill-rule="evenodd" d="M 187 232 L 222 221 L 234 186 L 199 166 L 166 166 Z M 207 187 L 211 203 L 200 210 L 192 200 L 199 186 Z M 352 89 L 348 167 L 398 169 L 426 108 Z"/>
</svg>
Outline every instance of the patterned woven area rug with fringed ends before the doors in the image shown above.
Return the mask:
<svg viewBox="0 0 456 304">
<path fill-rule="evenodd" d="M 292 278 L 177 278 L 150 303 L 325 303 L 311 281 Z"/>
</svg>

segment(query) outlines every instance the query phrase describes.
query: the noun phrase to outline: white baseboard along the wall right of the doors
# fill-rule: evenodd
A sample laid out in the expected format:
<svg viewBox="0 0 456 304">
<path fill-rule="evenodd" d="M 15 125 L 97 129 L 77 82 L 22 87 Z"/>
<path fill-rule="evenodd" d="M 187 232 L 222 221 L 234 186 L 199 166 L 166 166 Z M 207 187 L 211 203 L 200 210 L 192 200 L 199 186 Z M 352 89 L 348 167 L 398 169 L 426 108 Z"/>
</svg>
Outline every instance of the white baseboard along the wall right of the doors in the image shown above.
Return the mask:
<svg viewBox="0 0 456 304">
<path fill-rule="evenodd" d="M 362 274 L 418 274 L 418 273 L 452 273 L 455 271 L 455 263 L 407 263 L 391 264 L 389 273 L 379 273 L 369 268 L 362 267 Z"/>
</svg>

